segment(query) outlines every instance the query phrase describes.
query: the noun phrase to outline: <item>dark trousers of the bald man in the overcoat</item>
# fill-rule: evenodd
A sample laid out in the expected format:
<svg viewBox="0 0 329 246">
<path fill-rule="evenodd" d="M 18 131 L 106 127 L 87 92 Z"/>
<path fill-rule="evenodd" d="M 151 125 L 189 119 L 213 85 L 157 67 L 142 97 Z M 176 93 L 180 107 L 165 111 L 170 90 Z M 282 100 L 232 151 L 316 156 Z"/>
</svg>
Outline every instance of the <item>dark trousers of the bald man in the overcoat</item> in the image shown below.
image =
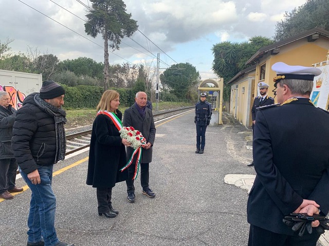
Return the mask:
<svg viewBox="0 0 329 246">
<path fill-rule="evenodd" d="M 135 192 L 134 187 L 134 174 L 135 174 L 136 163 L 132 163 L 132 165 L 128 168 L 128 179 L 125 181 L 127 184 L 127 193 Z M 140 163 L 140 184 L 144 191 L 149 189 L 149 168 L 150 163 Z"/>
</svg>

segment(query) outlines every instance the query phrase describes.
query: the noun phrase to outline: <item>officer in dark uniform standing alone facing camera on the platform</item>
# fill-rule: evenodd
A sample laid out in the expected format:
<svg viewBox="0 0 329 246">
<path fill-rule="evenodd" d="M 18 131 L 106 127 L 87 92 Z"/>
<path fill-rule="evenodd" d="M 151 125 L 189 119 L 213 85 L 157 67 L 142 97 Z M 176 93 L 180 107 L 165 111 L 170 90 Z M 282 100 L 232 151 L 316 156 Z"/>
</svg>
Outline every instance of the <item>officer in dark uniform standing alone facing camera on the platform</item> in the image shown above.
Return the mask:
<svg viewBox="0 0 329 246">
<path fill-rule="evenodd" d="M 194 123 L 196 125 L 196 151 L 197 154 L 203 154 L 206 144 L 206 129 L 210 124 L 212 109 L 206 101 L 206 93 L 201 93 L 200 101 L 195 105 Z"/>
</svg>

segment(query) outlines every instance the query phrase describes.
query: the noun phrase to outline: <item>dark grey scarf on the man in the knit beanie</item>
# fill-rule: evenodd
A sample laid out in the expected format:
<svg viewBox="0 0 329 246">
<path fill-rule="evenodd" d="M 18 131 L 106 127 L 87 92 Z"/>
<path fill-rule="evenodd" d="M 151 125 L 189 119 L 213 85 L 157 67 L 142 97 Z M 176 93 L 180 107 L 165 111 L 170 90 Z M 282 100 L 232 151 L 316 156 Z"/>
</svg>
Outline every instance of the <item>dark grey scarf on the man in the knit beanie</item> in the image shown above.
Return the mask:
<svg viewBox="0 0 329 246">
<path fill-rule="evenodd" d="M 64 160 L 65 158 L 65 150 L 66 150 L 66 136 L 64 124 L 66 122 L 66 112 L 57 108 L 51 104 L 48 104 L 44 99 L 40 98 L 40 94 L 36 94 L 34 96 L 34 101 L 40 108 L 46 111 L 47 114 L 52 116 L 55 120 L 55 130 L 56 130 L 56 156 L 55 162 L 57 163 L 59 160 Z"/>
</svg>

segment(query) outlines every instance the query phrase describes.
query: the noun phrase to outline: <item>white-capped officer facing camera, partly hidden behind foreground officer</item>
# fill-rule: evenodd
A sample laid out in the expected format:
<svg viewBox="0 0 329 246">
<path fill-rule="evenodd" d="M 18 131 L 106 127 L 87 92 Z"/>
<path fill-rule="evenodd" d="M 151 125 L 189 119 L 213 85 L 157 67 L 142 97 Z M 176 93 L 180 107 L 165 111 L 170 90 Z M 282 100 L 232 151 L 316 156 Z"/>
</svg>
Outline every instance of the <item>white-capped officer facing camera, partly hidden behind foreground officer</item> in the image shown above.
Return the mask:
<svg viewBox="0 0 329 246">
<path fill-rule="evenodd" d="M 257 115 L 257 111 L 258 111 L 257 108 L 274 104 L 274 98 L 267 95 L 268 87 L 269 87 L 269 85 L 267 85 L 264 82 L 258 83 L 260 96 L 257 96 L 253 99 L 253 104 L 252 104 L 252 108 L 251 108 L 252 135 L 253 135 L 253 129 L 254 129 L 255 123 L 256 123 L 256 115 Z M 253 167 L 253 161 L 250 164 L 248 164 L 247 166 Z"/>
</svg>

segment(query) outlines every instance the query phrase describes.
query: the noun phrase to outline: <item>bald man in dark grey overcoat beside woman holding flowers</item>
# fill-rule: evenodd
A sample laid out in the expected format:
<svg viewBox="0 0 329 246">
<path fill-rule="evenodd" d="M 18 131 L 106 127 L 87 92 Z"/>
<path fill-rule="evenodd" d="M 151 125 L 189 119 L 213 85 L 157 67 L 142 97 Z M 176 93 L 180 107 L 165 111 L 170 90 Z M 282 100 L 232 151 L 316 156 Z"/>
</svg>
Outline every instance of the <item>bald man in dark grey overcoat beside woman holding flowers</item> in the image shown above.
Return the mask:
<svg viewBox="0 0 329 246">
<path fill-rule="evenodd" d="M 152 146 L 155 139 L 155 125 L 152 110 L 147 106 L 148 96 L 145 92 L 137 92 L 135 97 L 135 104 L 126 109 L 123 115 L 123 126 L 133 127 L 143 134 L 143 137 L 147 141 L 147 145 L 142 149 L 142 157 L 140 160 L 140 182 L 142 186 L 142 193 L 150 198 L 155 197 L 155 193 L 149 186 L 149 167 L 152 161 Z M 129 160 L 134 152 L 132 147 L 127 147 L 127 159 Z M 134 173 L 136 167 L 136 157 L 133 163 L 128 168 L 129 178 L 126 180 L 127 184 L 127 200 L 129 202 L 135 202 L 135 187 L 134 187 Z"/>
</svg>

